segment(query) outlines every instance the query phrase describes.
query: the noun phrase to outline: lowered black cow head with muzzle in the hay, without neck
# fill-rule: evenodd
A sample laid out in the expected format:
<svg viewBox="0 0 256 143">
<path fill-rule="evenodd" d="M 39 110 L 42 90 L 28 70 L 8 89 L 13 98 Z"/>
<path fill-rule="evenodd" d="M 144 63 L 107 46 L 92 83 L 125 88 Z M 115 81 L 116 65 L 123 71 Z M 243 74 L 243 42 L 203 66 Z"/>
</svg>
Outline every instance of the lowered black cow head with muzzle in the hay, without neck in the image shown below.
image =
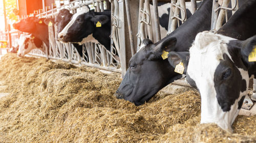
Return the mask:
<svg viewBox="0 0 256 143">
<path fill-rule="evenodd" d="M 143 40 L 140 50 L 131 58 L 115 96 L 141 105 L 168 83 L 181 78 L 182 75 L 174 72 L 168 60 L 161 57 L 163 50 L 169 51 L 175 44 L 175 37 L 166 37 L 155 44 Z"/>
</svg>

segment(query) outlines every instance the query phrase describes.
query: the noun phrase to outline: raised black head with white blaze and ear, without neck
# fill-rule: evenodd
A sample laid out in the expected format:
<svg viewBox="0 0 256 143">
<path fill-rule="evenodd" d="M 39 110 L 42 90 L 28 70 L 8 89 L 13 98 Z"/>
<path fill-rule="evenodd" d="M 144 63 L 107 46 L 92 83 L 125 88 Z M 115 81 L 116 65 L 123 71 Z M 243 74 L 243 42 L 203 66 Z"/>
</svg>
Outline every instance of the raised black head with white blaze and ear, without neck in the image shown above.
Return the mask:
<svg viewBox="0 0 256 143">
<path fill-rule="evenodd" d="M 74 14 L 70 22 L 58 34 L 58 38 L 63 42 L 85 43 L 97 42 L 93 41 L 91 36 L 96 28 L 96 23 L 100 22 L 102 27 L 110 21 L 110 17 L 106 15 L 96 15 L 89 9 L 82 9 Z"/>
</svg>

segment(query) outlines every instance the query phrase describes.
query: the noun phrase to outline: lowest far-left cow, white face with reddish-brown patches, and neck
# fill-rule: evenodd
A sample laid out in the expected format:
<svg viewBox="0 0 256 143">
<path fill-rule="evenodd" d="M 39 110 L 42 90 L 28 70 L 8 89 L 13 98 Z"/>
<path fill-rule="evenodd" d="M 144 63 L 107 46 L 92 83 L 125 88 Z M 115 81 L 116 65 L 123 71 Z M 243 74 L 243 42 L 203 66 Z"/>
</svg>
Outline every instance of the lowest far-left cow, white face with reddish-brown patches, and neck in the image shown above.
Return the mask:
<svg viewBox="0 0 256 143">
<path fill-rule="evenodd" d="M 29 53 L 32 49 L 38 48 L 42 50 L 42 41 L 33 36 L 32 34 L 21 34 L 18 39 L 18 56 L 25 56 L 25 54 Z M 43 51 L 43 50 L 42 50 Z"/>
</svg>

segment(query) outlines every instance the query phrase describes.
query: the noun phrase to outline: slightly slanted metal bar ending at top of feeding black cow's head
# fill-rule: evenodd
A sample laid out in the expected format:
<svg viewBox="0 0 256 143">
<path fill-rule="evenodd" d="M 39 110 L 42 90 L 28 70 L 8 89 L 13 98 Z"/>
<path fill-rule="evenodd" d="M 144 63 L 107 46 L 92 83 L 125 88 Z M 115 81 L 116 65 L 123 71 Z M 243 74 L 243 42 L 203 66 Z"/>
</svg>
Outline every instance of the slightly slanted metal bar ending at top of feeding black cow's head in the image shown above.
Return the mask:
<svg viewBox="0 0 256 143">
<path fill-rule="evenodd" d="M 155 28 L 156 28 L 156 42 L 158 42 L 159 40 L 161 40 L 161 35 L 160 35 L 157 0 L 153 0 L 153 8 L 154 8 Z"/>
</svg>

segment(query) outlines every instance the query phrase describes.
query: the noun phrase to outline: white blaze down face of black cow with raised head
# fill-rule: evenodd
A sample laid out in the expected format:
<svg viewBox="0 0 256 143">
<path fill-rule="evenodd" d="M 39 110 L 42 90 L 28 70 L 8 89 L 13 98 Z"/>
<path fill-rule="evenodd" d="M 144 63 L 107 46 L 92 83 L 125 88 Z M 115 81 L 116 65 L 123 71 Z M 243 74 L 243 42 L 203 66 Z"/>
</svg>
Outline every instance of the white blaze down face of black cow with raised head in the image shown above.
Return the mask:
<svg viewBox="0 0 256 143">
<path fill-rule="evenodd" d="M 58 34 L 58 38 L 61 37 L 61 36 L 66 36 L 67 33 L 68 33 L 68 30 L 69 28 L 74 24 L 77 16 L 81 15 L 81 14 L 84 14 L 84 13 L 87 13 L 89 12 L 89 8 L 88 7 L 83 7 L 83 9 L 77 13 L 75 13 L 72 17 L 72 19 L 70 20 L 70 22 L 65 26 L 65 28 L 63 28 L 63 30 Z"/>
</svg>

